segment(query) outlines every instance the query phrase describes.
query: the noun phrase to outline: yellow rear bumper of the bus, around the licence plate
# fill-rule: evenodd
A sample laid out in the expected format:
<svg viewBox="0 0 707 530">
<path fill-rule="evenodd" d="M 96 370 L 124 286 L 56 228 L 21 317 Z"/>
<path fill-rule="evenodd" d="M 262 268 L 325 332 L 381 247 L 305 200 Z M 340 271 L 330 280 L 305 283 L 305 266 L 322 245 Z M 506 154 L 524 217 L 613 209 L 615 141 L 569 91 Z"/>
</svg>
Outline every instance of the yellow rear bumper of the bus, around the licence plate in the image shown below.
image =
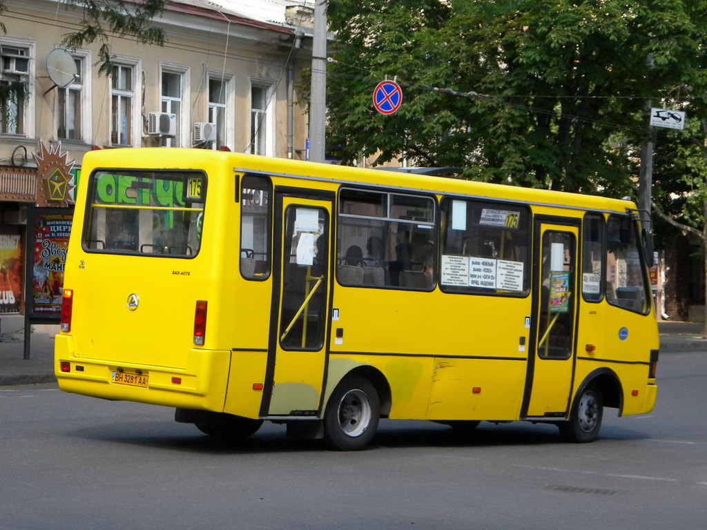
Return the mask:
<svg viewBox="0 0 707 530">
<path fill-rule="evenodd" d="M 69 363 L 68 372 L 62 371 L 62 363 Z M 229 368 L 230 351 L 192 348 L 182 370 L 77 357 L 70 335 L 54 339 L 54 374 L 59 388 L 103 399 L 223 412 Z M 147 386 L 114 382 L 113 373 L 119 369 L 146 377 L 141 381 Z"/>
</svg>

